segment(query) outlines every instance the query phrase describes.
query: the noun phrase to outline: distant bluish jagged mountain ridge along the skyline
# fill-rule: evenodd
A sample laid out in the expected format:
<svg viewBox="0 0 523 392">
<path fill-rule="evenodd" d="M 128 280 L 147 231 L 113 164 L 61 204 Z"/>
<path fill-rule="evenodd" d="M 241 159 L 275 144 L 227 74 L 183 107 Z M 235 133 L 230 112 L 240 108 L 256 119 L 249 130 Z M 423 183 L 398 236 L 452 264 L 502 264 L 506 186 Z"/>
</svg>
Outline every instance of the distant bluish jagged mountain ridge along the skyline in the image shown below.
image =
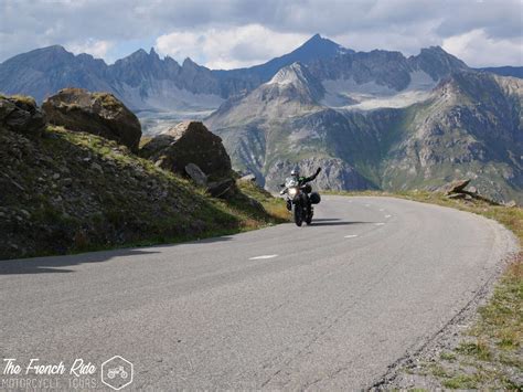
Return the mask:
<svg viewBox="0 0 523 392">
<path fill-rule="evenodd" d="M 399 52 L 355 52 L 316 34 L 290 53 L 266 63 L 237 70 L 210 70 L 189 57 L 182 64 L 170 56 L 160 59 L 153 47 L 149 53 L 140 49 L 107 64 L 92 55 L 74 55 L 63 46 L 53 45 L 1 63 L 0 91 L 26 94 L 42 102 L 61 88 L 74 86 L 114 93 L 136 112 L 211 110 L 224 99 L 268 82 L 281 67 L 295 62 L 310 65 L 310 71 L 318 77 L 320 68 L 330 66 L 321 66 L 322 62 L 334 63 L 334 59 L 352 62 L 353 59 L 373 57 L 380 53 L 395 53 L 404 61 L 413 61 L 410 59 L 423 56 L 425 52 L 421 50 L 418 56 L 408 59 Z"/>
</svg>

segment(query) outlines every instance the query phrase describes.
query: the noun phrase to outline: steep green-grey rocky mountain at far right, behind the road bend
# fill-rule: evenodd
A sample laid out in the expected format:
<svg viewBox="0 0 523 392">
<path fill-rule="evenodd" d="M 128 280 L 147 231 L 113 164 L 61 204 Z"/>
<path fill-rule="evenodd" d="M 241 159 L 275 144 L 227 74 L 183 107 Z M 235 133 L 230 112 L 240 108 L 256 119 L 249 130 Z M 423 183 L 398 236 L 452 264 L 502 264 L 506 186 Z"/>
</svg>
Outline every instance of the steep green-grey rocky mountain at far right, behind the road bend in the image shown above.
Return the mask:
<svg viewBox="0 0 523 392">
<path fill-rule="evenodd" d="M 472 178 L 483 193 L 523 199 L 523 81 L 457 73 L 408 108 L 402 137 L 383 161 L 384 189 Z"/>
</svg>

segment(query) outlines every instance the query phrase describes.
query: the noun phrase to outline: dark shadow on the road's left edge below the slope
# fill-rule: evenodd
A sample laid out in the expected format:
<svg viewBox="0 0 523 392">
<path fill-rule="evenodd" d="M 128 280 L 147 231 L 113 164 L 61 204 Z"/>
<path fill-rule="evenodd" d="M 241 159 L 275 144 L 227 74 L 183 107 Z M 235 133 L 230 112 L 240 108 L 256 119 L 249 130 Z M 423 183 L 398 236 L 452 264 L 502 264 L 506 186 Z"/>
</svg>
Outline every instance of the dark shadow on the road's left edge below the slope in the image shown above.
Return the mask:
<svg viewBox="0 0 523 392">
<path fill-rule="evenodd" d="M 104 251 L 89 254 L 77 254 L 70 256 L 50 256 L 50 257 L 34 257 L 23 259 L 6 259 L 0 261 L 0 275 L 14 274 L 45 274 L 45 273 L 72 273 L 73 269 L 63 267 L 79 265 L 85 263 L 100 263 L 113 257 L 128 257 L 153 254 L 159 252 L 142 251 L 142 250 L 118 250 Z"/>
</svg>

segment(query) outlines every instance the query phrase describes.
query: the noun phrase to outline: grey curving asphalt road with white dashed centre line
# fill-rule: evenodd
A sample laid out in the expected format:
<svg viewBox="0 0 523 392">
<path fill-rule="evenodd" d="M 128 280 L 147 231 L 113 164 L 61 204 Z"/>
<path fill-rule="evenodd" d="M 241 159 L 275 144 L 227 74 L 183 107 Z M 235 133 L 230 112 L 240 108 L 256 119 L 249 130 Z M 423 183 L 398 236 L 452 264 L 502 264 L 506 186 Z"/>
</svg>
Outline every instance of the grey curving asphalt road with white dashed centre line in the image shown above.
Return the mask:
<svg viewBox="0 0 523 392">
<path fill-rule="evenodd" d="M 99 369 L 119 354 L 135 389 L 369 388 L 491 284 L 515 246 L 492 221 L 405 200 L 324 197 L 316 218 L 0 262 L 0 357 Z"/>
</svg>

